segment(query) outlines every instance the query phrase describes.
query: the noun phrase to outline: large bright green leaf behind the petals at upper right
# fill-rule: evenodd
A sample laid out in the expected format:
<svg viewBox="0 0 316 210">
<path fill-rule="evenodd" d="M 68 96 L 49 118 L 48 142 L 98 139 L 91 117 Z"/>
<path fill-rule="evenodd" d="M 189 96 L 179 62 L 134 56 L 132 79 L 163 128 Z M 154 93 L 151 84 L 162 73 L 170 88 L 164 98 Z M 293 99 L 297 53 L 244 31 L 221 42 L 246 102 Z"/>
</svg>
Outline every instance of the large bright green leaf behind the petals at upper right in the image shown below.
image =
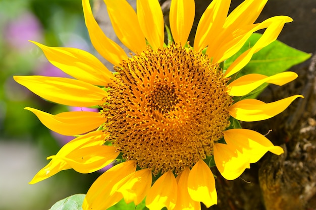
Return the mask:
<svg viewBox="0 0 316 210">
<path fill-rule="evenodd" d="M 261 36 L 258 33 L 252 34 L 244 46 L 235 55 L 225 61 L 224 69 L 227 69 L 239 55 L 252 47 Z M 237 73 L 238 75 L 235 75 L 235 77 L 232 76 L 232 78 L 237 79 L 243 75 L 253 73 L 272 76 L 285 72 L 291 66 L 301 63 L 309 57 L 310 54 L 294 49 L 276 40 L 257 53 L 254 53 L 249 63 Z"/>
</svg>

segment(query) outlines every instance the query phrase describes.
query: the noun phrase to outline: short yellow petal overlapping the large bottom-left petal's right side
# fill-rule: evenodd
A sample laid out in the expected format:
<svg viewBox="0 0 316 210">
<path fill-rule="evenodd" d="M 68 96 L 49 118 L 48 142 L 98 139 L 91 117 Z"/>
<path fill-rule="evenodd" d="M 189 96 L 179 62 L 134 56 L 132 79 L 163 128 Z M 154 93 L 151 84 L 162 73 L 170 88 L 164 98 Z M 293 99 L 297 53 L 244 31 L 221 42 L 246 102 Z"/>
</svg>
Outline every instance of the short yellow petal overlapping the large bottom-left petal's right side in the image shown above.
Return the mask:
<svg viewBox="0 0 316 210">
<path fill-rule="evenodd" d="M 151 187 L 151 170 L 141 169 L 123 178 L 117 185 L 126 203 L 134 201 L 138 205 L 147 195 Z"/>
</svg>

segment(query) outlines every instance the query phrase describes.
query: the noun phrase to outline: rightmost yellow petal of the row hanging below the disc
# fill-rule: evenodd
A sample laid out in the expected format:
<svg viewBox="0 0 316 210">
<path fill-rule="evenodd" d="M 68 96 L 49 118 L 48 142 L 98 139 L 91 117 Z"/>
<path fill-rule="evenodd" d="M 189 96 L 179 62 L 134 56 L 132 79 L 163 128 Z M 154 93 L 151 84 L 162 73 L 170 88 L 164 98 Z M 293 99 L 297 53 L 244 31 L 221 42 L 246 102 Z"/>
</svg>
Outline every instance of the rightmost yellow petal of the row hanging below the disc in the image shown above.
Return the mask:
<svg viewBox="0 0 316 210">
<path fill-rule="evenodd" d="M 199 160 L 191 169 L 188 177 L 188 191 L 193 200 L 203 202 L 206 207 L 217 204 L 214 175 L 202 160 Z"/>
</svg>

